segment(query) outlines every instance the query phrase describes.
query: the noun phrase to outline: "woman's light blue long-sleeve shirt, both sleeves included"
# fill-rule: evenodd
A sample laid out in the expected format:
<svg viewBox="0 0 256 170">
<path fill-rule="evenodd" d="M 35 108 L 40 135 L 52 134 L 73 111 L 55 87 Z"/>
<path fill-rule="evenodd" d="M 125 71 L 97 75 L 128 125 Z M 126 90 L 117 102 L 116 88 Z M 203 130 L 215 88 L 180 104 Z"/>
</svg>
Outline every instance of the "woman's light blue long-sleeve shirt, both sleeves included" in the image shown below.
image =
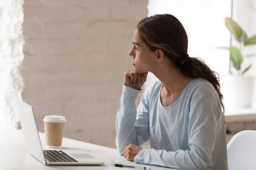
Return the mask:
<svg viewBox="0 0 256 170">
<path fill-rule="evenodd" d="M 123 155 L 126 146 L 143 148 L 135 163 L 177 169 L 227 170 L 225 124 L 220 99 L 213 85 L 193 79 L 171 105 L 161 104 L 162 82 L 157 81 L 142 97 L 140 90 L 123 85 L 116 115 L 116 147 Z"/>
</svg>

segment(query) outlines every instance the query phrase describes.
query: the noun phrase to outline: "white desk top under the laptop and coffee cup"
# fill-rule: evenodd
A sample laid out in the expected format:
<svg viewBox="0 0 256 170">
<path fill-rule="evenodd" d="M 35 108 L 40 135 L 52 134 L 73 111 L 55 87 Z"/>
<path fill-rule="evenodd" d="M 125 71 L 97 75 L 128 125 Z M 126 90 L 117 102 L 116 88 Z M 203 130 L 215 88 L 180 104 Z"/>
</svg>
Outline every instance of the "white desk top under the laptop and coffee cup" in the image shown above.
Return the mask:
<svg viewBox="0 0 256 170">
<path fill-rule="evenodd" d="M 8 132 L 8 133 L 6 133 Z M 118 151 L 113 148 L 107 148 L 100 145 L 63 138 L 62 148 L 60 149 L 81 149 L 86 150 L 91 155 L 104 161 L 104 165 L 44 165 L 32 155 L 27 153 L 25 140 L 22 130 L 0 130 L 0 170 L 105 170 L 111 163 L 118 162 L 123 164 L 135 165 L 134 162 L 126 160 L 118 154 Z M 44 133 L 39 133 L 43 149 L 45 147 Z M 136 164 L 139 165 L 139 164 Z M 149 166 L 151 170 L 170 170 L 157 166 Z"/>
</svg>

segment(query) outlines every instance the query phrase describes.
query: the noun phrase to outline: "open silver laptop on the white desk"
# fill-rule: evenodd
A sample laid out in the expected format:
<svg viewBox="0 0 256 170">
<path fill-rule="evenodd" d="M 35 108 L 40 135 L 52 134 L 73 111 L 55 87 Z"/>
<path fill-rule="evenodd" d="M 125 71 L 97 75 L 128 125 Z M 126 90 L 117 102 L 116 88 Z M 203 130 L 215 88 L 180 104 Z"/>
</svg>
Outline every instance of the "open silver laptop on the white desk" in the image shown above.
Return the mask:
<svg viewBox="0 0 256 170">
<path fill-rule="evenodd" d="M 41 163 L 44 165 L 104 164 L 103 161 L 96 159 L 85 150 L 43 150 L 32 106 L 18 99 L 16 99 L 16 105 L 28 153 Z"/>
</svg>

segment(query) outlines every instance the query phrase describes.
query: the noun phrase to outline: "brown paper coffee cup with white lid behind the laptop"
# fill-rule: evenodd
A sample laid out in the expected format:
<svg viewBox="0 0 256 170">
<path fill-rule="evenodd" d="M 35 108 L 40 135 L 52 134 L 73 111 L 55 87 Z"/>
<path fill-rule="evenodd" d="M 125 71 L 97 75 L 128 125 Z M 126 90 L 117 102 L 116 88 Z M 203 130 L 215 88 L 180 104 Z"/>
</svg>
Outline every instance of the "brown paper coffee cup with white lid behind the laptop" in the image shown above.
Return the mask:
<svg viewBox="0 0 256 170">
<path fill-rule="evenodd" d="M 50 148 L 61 146 L 65 122 L 67 122 L 65 117 L 60 115 L 46 115 L 44 117 L 46 146 Z"/>
</svg>

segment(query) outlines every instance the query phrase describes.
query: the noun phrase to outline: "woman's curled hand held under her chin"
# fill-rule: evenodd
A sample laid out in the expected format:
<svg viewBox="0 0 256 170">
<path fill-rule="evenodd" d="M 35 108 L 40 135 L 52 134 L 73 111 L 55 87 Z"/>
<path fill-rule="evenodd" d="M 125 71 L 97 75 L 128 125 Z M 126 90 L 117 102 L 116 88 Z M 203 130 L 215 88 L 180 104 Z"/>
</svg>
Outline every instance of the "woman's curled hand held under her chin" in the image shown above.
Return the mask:
<svg viewBox="0 0 256 170">
<path fill-rule="evenodd" d="M 148 72 L 137 73 L 134 70 L 128 70 L 124 73 L 123 83 L 133 89 L 139 90 L 147 80 Z"/>
</svg>

